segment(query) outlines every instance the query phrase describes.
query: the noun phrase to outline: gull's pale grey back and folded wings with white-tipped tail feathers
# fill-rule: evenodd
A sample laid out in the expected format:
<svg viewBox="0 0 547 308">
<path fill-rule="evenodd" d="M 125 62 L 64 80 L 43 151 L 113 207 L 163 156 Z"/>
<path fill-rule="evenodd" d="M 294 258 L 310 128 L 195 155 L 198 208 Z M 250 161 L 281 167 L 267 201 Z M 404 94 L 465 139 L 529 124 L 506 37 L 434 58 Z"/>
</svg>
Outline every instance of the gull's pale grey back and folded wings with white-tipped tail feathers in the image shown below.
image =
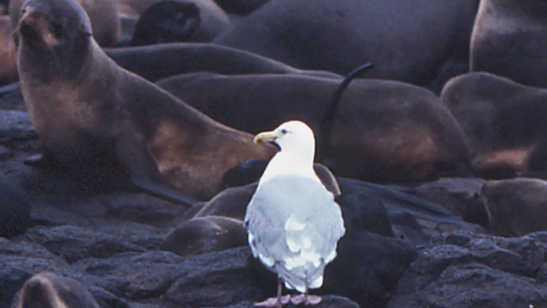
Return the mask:
<svg viewBox="0 0 547 308">
<path fill-rule="evenodd" d="M 280 175 L 262 183 L 245 215 L 253 255 L 293 288 L 322 285 L 336 256 L 344 221 L 334 196 L 321 183 Z"/>
</svg>

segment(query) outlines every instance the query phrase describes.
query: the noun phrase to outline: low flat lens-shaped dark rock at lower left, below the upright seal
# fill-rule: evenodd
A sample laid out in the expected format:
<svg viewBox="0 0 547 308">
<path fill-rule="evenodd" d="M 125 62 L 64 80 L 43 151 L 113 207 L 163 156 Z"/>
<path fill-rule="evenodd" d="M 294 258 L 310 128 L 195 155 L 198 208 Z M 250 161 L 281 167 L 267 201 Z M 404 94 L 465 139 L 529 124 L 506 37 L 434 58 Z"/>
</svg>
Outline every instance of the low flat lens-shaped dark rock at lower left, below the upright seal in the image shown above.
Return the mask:
<svg viewBox="0 0 547 308">
<path fill-rule="evenodd" d="M 88 257 L 106 258 L 120 252 L 146 251 L 143 247 L 120 240 L 114 235 L 74 226 L 36 227 L 29 229 L 16 240 L 42 245 L 68 263 Z"/>
</svg>

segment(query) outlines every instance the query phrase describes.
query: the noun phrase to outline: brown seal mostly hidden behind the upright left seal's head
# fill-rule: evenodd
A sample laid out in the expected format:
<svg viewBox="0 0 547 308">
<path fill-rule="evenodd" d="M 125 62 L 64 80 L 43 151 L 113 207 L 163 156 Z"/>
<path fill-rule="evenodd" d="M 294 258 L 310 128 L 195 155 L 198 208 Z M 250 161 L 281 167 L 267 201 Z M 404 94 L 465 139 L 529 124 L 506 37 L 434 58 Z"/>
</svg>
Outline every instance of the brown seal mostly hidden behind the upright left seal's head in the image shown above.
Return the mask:
<svg viewBox="0 0 547 308">
<path fill-rule="evenodd" d="M 20 18 L 21 6 L 26 0 L 10 0 L 9 16 L 11 26 L 17 27 Z M 91 20 L 93 37 L 97 43 L 104 46 L 113 46 L 121 40 L 121 23 L 117 13 L 115 0 L 77 0 L 85 9 Z"/>
</svg>

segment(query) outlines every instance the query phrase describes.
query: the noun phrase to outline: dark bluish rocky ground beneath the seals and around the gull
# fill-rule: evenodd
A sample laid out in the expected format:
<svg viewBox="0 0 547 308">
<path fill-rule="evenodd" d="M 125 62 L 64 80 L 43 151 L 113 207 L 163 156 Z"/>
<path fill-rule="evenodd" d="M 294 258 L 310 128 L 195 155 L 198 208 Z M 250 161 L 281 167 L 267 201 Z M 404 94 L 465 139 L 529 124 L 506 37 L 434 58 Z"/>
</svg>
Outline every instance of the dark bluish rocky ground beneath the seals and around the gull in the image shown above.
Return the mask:
<svg viewBox="0 0 547 308">
<path fill-rule="evenodd" d="M 274 295 L 275 276 L 248 247 L 184 257 L 159 250 L 182 206 L 119 191 L 74 194 L 71 179 L 24 165 L 42 146 L 17 100 L 0 92 L 0 170 L 24 189 L 12 196 L 0 187 L 0 222 L 21 217 L 24 231 L 0 238 L 0 308 L 46 270 L 83 282 L 102 307 L 252 307 Z M 482 183 L 441 179 L 407 190 L 475 224 L 418 220 L 419 241 L 348 230 L 316 292 L 326 295 L 319 307 L 547 307 L 547 232 L 486 234 Z M 12 197 L 16 211 L 5 205 Z"/>
</svg>

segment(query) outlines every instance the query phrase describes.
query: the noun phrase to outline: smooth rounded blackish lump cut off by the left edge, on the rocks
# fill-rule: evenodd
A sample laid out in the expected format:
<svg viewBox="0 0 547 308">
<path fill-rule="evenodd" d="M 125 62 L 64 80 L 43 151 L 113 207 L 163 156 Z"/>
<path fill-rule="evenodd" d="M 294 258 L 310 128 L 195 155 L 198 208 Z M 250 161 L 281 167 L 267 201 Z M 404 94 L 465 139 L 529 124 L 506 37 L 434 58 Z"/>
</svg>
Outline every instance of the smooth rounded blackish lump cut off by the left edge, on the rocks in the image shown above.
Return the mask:
<svg viewBox="0 0 547 308">
<path fill-rule="evenodd" d="M 0 236 L 13 238 L 31 223 L 31 204 L 13 179 L 0 174 Z"/>
</svg>

